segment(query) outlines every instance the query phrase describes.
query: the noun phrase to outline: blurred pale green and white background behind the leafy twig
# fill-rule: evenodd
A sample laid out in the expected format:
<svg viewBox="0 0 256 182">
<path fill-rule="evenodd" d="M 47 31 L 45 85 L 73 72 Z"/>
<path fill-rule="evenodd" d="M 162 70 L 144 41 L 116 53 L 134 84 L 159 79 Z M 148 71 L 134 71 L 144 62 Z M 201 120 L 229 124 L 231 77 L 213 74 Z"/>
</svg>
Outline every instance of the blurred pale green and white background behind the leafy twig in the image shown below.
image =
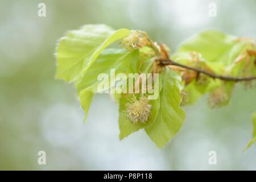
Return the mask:
<svg viewBox="0 0 256 182">
<path fill-rule="evenodd" d="M 46 17 L 38 4 L 46 3 Z M 216 3 L 217 17 L 208 15 Z M 238 86 L 223 109 L 207 96 L 185 107 L 187 118 L 172 142 L 159 150 L 141 130 L 119 141 L 118 105 L 93 99 L 86 124 L 73 85 L 55 80 L 56 40 L 82 24 L 148 32 L 175 51 L 185 39 L 213 28 L 256 38 L 255 0 L 112 0 L 0 2 L 0 169 L 256 169 L 251 139 L 255 89 Z M 38 164 L 38 151 L 47 164 Z M 208 152 L 217 152 L 217 165 Z"/>
</svg>

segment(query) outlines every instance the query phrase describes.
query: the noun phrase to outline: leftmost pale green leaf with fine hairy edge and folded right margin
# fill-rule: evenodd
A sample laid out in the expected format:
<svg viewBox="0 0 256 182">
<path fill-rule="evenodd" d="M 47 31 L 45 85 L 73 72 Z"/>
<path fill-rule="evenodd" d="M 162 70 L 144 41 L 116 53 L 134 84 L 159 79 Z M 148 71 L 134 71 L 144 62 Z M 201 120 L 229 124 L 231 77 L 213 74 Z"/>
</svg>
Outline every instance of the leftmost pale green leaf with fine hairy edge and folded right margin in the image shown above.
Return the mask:
<svg viewBox="0 0 256 182">
<path fill-rule="evenodd" d="M 101 51 L 128 35 L 125 28 L 114 31 L 104 24 L 87 24 L 80 30 L 68 31 L 56 49 L 56 78 L 74 81 L 84 74 Z"/>
</svg>

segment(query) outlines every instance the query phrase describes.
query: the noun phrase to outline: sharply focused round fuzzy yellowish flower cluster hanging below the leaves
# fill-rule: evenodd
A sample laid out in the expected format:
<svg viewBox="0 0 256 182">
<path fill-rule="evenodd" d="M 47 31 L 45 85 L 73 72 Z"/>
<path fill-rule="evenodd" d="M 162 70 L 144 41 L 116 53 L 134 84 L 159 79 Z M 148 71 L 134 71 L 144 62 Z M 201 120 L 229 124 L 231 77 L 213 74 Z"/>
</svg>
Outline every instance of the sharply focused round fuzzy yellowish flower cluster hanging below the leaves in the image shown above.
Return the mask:
<svg viewBox="0 0 256 182">
<path fill-rule="evenodd" d="M 139 98 L 139 100 L 135 97 L 131 98 L 131 100 L 126 103 L 125 114 L 127 119 L 131 123 L 146 123 L 150 118 L 150 111 L 152 109 L 152 105 L 148 102 L 148 98 L 144 96 Z"/>
</svg>

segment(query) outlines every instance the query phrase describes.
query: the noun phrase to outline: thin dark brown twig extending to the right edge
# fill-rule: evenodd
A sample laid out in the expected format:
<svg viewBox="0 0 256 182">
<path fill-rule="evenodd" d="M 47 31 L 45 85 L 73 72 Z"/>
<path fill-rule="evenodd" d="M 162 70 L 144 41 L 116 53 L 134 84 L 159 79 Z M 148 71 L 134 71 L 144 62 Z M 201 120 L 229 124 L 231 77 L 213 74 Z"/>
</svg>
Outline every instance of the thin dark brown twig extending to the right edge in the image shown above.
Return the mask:
<svg viewBox="0 0 256 182">
<path fill-rule="evenodd" d="M 214 73 L 210 73 L 208 71 L 205 71 L 204 69 L 199 69 L 199 68 L 193 68 L 193 67 L 188 67 L 187 65 L 176 63 L 175 61 L 172 61 L 170 59 L 156 59 L 156 61 L 159 61 L 160 64 L 163 65 L 175 65 L 177 67 L 189 69 L 195 72 L 203 73 L 211 78 L 218 78 L 220 80 L 225 80 L 225 81 L 251 81 L 251 80 L 256 80 L 256 76 L 254 77 L 231 77 L 231 76 L 222 76 L 222 75 L 215 75 Z"/>
</svg>

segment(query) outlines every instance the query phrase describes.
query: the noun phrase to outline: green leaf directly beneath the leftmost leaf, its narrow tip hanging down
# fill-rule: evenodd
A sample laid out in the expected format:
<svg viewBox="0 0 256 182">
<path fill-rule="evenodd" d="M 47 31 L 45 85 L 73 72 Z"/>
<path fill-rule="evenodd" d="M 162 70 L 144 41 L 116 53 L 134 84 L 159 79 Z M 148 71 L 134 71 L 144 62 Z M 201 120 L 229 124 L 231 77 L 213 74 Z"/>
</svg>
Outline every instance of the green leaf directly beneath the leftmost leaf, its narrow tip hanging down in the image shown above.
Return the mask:
<svg viewBox="0 0 256 182">
<path fill-rule="evenodd" d="M 110 79 L 110 68 L 115 69 L 115 74 L 130 73 L 131 61 L 138 61 L 139 50 L 121 51 L 120 49 L 106 49 L 98 57 L 95 63 L 90 67 L 89 71 L 84 74 L 79 82 L 76 83 L 76 88 L 79 92 L 79 98 L 82 109 L 85 111 L 85 119 L 87 117 L 90 103 L 93 95 L 99 93 L 98 84 L 102 81 L 110 88 L 110 80 L 98 80 L 100 73 L 106 73 Z"/>
</svg>

